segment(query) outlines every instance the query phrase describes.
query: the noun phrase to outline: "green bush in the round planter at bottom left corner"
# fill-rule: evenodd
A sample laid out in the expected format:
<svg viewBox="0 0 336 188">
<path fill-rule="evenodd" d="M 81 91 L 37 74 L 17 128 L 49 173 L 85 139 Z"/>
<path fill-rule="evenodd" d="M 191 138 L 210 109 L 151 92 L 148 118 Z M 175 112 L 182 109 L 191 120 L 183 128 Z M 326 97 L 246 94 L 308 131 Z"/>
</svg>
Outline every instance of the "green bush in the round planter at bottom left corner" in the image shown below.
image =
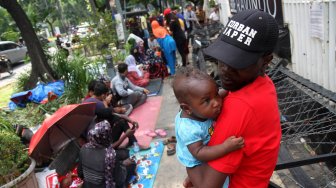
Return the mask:
<svg viewBox="0 0 336 188">
<path fill-rule="evenodd" d="M 13 131 L 0 129 L 0 143 L 0 185 L 3 185 L 20 176 L 30 164 L 24 145 Z"/>
</svg>

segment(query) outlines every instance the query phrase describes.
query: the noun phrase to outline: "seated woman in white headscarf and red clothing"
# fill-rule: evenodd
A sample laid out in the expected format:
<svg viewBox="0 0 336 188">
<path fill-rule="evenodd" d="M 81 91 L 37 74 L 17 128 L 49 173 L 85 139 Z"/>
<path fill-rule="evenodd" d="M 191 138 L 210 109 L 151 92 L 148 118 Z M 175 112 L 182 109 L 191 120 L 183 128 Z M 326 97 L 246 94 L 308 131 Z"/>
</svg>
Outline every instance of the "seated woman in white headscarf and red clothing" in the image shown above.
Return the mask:
<svg viewBox="0 0 336 188">
<path fill-rule="evenodd" d="M 125 59 L 128 65 L 127 78 L 135 85 L 145 87 L 149 83 L 149 73 L 142 68 L 138 68 L 133 55 L 129 55 Z"/>
</svg>

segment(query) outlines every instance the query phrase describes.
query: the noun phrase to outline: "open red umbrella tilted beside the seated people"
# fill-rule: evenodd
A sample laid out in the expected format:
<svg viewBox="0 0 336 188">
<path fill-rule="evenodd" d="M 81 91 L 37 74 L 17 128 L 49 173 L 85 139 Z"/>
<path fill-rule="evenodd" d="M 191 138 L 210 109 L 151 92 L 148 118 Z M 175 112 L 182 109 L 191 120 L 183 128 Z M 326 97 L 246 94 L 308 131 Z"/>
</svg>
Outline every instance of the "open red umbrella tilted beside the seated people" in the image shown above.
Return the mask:
<svg viewBox="0 0 336 188">
<path fill-rule="evenodd" d="M 32 137 L 30 157 L 36 161 L 50 159 L 71 139 L 78 138 L 93 121 L 95 106 L 95 103 L 84 103 L 59 108 Z"/>
</svg>

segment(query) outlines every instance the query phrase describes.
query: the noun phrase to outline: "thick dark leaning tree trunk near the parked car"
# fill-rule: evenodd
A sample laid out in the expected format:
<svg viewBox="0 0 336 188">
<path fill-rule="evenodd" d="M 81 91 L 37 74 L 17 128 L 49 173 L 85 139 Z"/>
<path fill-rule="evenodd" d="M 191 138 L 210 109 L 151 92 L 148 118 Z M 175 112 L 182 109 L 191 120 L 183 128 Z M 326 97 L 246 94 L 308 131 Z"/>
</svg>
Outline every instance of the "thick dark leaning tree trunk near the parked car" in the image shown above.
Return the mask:
<svg viewBox="0 0 336 188">
<path fill-rule="evenodd" d="M 55 75 L 53 74 L 53 71 L 47 62 L 47 58 L 43 52 L 41 43 L 38 40 L 34 28 L 20 4 L 16 0 L 0 0 L 0 6 L 5 8 L 13 17 L 28 49 L 32 70 L 28 85 L 26 85 L 25 89 L 35 87 L 38 81 L 38 77 L 43 80 L 44 74 L 47 74 L 49 78 L 54 79 Z"/>
</svg>

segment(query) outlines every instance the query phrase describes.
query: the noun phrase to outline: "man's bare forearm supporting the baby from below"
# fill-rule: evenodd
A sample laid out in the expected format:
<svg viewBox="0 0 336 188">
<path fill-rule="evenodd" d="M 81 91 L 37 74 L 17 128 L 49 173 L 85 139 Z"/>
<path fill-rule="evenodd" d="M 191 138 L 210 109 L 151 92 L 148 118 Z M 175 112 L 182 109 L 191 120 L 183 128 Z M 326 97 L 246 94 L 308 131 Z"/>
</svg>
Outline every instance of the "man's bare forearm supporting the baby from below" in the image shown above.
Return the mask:
<svg viewBox="0 0 336 188">
<path fill-rule="evenodd" d="M 206 163 L 187 168 L 188 177 L 195 188 L 222 188 L 228 174 L 214 170 Z"/>
</svg>

